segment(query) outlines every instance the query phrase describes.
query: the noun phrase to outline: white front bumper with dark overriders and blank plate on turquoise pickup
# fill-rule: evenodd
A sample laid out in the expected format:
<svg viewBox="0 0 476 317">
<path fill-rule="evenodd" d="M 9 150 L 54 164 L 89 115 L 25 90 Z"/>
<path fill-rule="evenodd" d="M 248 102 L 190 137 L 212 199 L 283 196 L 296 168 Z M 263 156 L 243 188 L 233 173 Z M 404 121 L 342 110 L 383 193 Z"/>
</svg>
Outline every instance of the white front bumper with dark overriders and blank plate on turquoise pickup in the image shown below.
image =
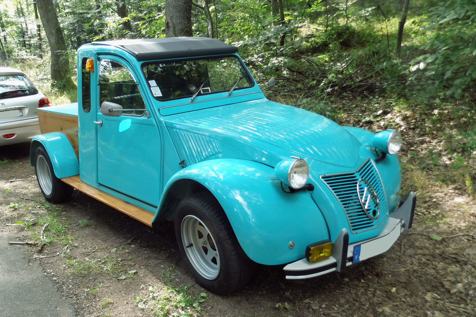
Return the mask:
<svg viewBox="0 0 476 317">
<path fill-rule="evenodd" d="M 412 227 L 417 196 L 410 192 L 402 201 L 400 207 L 390 213 L 387 225 L 378 236 L 349 244 L 347 229 L 342 229 L 333 244 L 331 257 L 313 263 L 306 258 L 289 263 L 283 268 L 286 278 L 303 279 L 343 271 L 349 265 L 384 253 L 397 241 L 401 232 Z"/>
</svg>

